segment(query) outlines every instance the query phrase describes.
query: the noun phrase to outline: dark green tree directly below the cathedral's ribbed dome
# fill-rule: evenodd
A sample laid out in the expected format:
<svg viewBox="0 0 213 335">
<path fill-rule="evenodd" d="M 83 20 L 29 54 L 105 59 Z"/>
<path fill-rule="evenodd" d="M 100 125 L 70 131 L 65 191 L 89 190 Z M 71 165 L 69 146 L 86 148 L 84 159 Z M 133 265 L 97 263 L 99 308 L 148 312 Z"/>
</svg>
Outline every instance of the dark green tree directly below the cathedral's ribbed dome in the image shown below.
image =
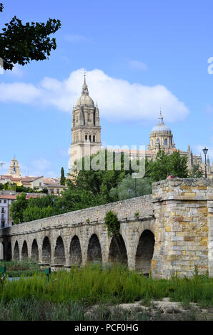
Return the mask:
<svg viewBox="0 0 213 335">
<path fill-rule="evenodd" d="M 179 178 L 188 177 L 187 156 L 181 156 L 178 151 L 174 151 L 172 155 L 159 151 L 156 160 L 148 163 L 146 176 L 150 182 L 167 179 L 169 175 Z"/>
</svg>

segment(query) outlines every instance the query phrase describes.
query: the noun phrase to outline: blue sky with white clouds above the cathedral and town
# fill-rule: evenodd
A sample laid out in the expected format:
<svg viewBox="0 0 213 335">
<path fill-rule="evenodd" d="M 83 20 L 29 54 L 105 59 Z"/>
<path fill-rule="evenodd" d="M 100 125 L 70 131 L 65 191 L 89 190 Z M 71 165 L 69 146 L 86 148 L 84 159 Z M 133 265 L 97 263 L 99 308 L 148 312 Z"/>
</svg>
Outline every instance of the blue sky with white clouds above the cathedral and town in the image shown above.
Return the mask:
<svg viewBox="0 0 213 335">
<path fill-rule="evenodd" d="M 2 0 L 3 1 L 3 0 Z M 61 20 L 49 61 L 0 75 L 1 155 L 23 175 L 68 172 L 71 110 L 84 68 L 98 101 L 106 145 L 148 145 L 160 108 L 181 150 L 209 148 L 213 160 L 213 3 L 203 1 L 3 1 L 14 15 Z"/>
</svg>

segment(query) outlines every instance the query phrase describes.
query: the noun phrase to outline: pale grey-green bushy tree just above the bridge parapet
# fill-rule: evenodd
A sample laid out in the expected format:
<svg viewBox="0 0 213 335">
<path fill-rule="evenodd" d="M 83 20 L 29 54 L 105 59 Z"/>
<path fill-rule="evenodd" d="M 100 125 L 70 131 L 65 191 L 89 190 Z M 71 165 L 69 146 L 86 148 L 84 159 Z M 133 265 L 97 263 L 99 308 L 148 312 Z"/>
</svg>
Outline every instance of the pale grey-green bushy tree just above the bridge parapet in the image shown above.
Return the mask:
<svg viewBox="0 0 213 335">
<path fill-rule="evenodd" d="M 110 194 L 114 200 L 124 200 L 135 196 L 135 184 L 137 189 L 137 197 L 152 193 L 152 185 L 148 177 L 137 178 L 134 180 L 132 175 L 125 177 L 119 182 L 118 187 L 112 188 Z"/>
</svg>

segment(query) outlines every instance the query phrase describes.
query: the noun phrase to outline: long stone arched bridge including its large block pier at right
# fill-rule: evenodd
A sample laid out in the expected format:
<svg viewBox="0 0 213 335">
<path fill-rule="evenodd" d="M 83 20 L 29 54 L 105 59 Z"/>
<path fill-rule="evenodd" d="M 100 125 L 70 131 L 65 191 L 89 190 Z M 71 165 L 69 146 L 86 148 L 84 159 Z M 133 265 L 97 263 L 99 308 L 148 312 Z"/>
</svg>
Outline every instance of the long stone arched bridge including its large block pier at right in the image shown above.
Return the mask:
<svg viewBox="0 0 213 335">
<path fill-rule="evenodd" d="M 106 212 L 120 231 L 108 237 Z M 213 275 L 213 180 L 162 180 L 152 195 L 112 202 L 0 230 L 0 259 L 31 258 L 51 268 L 122 262 L 156 278 Z"/>
</svg>

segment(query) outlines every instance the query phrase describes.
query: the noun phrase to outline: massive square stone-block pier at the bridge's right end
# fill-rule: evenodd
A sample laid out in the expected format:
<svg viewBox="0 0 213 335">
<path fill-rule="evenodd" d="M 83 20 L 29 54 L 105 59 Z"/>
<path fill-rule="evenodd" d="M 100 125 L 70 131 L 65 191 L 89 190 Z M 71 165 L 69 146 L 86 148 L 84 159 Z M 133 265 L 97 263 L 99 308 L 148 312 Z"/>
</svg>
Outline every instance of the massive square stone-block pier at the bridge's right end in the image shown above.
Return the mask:
<svg viewBox="0 0 213 335">
<path fill-rule="evenodd" d="M 152 190 L 154 275 L 192 276 L 197 267 L 212 276 L 213 181 L 174 178 L 155 182 Z"/>
</svg>

